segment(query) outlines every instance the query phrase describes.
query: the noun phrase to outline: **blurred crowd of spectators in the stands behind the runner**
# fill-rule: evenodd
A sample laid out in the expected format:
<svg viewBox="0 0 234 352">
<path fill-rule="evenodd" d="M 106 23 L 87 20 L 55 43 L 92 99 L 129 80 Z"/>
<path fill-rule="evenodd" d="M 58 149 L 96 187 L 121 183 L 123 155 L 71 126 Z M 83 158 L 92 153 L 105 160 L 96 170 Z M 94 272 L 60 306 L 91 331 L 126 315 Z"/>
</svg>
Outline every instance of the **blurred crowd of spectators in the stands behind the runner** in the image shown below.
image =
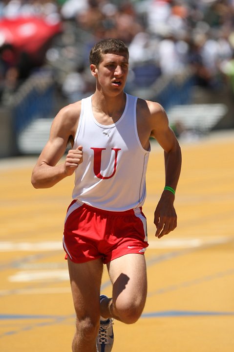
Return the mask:
<svg viewBox="0 0 234 352">
<path fill-rule="evenodd" d="M 234 0 L 0 1 L 0 22 L 39 17 L 59 27 L 33 53 L 30 43 L 19 50 L 6 42 L 0 26 L 2 101 L 37 70 L 53 71 L 69 102 L 89 94 L 89 50 L 110 37 L 128 44 L 129 89 L 185 69 L 196 85 L 219 89 L 229 81 L 234 89 Z"/>
</svg>

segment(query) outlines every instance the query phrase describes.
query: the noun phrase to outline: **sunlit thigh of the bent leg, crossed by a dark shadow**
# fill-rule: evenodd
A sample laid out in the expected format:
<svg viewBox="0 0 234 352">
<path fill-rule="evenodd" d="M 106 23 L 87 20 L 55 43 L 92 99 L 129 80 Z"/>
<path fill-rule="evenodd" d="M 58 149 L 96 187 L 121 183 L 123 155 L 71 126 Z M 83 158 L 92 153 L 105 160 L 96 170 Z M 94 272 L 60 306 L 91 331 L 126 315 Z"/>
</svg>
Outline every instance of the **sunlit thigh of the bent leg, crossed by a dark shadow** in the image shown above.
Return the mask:
<svg viewBox="0 0 234 352">
<path fill-rule="evenodd" d="M 113 303 L 134 302 L 144 307 L 147 296 L 147 272 L 145 256 L 127 254 L 107 264 L 113 285 Z"/>
</svg>

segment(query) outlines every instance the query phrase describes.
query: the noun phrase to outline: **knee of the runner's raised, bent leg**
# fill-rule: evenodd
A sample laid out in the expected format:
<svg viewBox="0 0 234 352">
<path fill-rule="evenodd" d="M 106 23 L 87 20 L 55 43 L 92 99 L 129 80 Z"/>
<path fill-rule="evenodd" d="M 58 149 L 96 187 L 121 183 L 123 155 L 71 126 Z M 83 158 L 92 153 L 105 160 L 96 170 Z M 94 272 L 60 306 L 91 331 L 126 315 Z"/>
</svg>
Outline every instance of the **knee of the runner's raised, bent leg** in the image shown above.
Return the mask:
<svg viewBox="0 0 234 352">
<path fill-rule="evenodd" d="M 125 324 L 133 324 L 140 318 L 144 305 L 136 302 L 125 302 L 115 306 L 116 315 Z"/>
</svg>

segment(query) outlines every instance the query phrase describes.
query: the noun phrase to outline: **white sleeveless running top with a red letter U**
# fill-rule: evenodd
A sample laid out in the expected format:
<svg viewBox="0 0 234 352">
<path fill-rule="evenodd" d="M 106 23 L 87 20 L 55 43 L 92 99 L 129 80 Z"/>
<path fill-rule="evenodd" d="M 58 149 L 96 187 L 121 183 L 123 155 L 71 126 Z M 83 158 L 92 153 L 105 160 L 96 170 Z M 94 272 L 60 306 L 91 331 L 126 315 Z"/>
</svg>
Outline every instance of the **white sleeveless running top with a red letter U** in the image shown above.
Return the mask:
<svg viewBox="0 0 234 352">
<path fill-rule="evenodd" d="M 75 171 L 72 198 L 109 211 L 142 206 L 149 151 L 142 147 L 137 132 L 137 98 L 126 94 L 122 116 L 109 126 L 96 121 L 91 99 L 82 99 L 81 104 L 73 149 L 83 146 L 83 162 Z"/>
</svg>

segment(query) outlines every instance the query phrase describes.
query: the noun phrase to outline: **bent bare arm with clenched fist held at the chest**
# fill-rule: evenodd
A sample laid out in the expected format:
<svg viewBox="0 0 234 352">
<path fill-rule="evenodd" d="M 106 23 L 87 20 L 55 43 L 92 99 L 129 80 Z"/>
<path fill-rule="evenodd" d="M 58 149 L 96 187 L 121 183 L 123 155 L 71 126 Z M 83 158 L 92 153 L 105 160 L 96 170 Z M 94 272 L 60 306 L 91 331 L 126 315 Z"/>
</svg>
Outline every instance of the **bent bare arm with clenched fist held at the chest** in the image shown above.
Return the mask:
<svg viewBox="0 0 234 352">
<path fill-rule="evenodd" d="M 35 188 L 49 188 L 64 177 L 73 174 L 82 162 L 82 146 L 70 150 L 63 164 L 57 165 L 65 153 L 67 143 L 74 140 L 80 105 L 76 103 L 62 109 L 55 117 L 49 140 L 46 143 L 33 169 L 31 182 Z"/>
</svg>

